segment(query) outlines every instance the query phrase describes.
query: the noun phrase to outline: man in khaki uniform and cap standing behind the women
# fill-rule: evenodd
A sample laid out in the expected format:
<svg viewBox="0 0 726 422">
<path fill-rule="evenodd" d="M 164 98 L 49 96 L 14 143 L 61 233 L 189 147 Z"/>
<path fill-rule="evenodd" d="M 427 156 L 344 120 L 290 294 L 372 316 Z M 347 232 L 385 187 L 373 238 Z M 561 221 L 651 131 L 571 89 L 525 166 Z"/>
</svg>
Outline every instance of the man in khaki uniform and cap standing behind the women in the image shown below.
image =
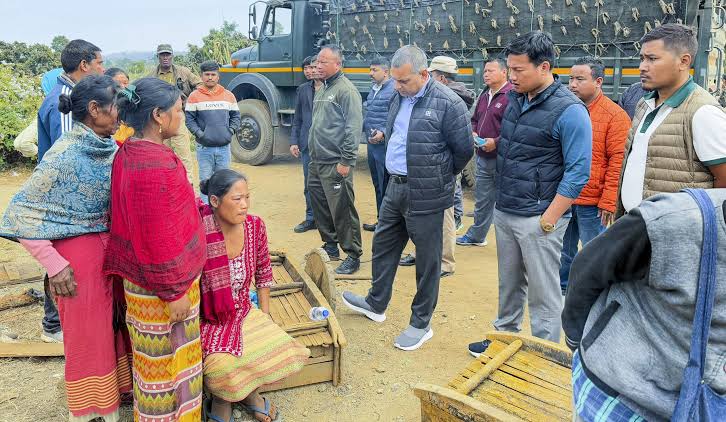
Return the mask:
<svg viewBox="0 0 726 422">
<path fill-rule="evenodd" d="M 201 86 L 201 78 L 189 68 L 174 64 L 174 50 L 171 48 L 171 45 L 160 44 L 156 48 L 156 55 L 159 58 L 159 65 L 147 76 L 159 78 L 179 88 L 182 92 L 182 101 L 186 104 L 189 94 L 197 89 L 197 86 Z M 165 139 L 164 145 L 174 150 L 174 153 L 176 153 L 187 169 L 189 183 L 194 184 L 194 177 L 192 175 L 194 165 L 192 164 L 191 136 L 185 122 L 182 122 L 179 128 L 179 134 L 173 138 Z"/>
</svg>

